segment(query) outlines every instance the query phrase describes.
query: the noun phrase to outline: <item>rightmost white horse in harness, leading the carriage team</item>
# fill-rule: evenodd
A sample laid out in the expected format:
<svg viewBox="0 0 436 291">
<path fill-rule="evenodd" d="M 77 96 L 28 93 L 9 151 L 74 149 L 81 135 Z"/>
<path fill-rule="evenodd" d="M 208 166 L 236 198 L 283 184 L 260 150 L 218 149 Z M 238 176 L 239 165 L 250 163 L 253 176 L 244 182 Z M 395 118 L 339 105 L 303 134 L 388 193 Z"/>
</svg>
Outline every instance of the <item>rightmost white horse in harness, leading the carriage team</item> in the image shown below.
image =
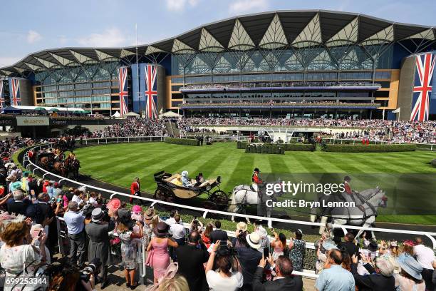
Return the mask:
<svg viewBox="0 0 436 291">
<path fill-rule="evenodd" d="M 360 206 L 350 208 L 333 208 L 331 210 L 332 223 L 335 225 L 355 225 L 370 227 L 375 222 L 375 215 L 377 215 L 378 208 L 386 207 L 388 198 L 385 191 L 380 188 L 367 189 L 360 192 L 363 196 L 365 203 Z M 364 230 L 359 230 L 356 238 L 358 238 Z M 372 232 L 373 238 L 375 238 Z"/>
</svg>

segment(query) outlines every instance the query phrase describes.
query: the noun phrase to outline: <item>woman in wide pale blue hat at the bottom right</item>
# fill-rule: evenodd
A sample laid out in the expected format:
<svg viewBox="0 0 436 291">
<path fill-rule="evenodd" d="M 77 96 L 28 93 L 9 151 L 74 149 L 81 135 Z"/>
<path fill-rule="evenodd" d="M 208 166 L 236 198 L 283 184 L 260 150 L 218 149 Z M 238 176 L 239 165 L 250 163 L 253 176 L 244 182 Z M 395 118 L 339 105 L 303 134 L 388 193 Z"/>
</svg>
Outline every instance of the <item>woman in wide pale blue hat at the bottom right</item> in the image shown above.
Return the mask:
<svg viewBox="0 0 436 291">
<path fill-rule="evenodd" d="M 395 289 L 397 291 L 425 291 L 425 282 L 422 280 L 422 266 L 410 255 L 400 255 L 398 265 L 401 272 L 395 275 Z"/>
</svg>

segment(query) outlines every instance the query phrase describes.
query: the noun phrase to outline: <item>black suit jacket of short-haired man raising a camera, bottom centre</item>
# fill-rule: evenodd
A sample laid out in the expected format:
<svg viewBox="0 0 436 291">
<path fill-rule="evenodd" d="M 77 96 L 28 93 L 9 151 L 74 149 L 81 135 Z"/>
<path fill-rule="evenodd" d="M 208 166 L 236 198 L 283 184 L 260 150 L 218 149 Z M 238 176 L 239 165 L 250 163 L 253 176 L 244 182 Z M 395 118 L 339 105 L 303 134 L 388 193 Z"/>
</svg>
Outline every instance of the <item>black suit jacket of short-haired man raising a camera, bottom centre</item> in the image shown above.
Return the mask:
<svg viewBox="0 0 436 291">
<path fill-rule="evenodd" d="M 303 290 L 303 279 L 301 276 L 289 276 L 283 279 L 264 282 L 262 284 L 263 267 L 257 267 L 253 277 L 253 291 L 301 291 Z"/>
</svg>

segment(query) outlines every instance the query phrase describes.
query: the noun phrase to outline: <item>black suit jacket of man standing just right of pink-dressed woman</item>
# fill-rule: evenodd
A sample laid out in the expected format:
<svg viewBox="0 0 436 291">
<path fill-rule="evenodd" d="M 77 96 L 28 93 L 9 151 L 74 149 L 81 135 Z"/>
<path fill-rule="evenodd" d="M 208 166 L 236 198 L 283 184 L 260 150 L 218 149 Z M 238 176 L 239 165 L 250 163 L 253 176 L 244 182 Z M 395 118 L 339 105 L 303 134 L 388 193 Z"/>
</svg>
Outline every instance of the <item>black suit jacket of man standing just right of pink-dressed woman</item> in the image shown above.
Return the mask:
<svg viewBox="0 0 436 291">
<path fill-rule="evenodd" d="M 190 290 L 209 290 L 203 263 L 209 260 L 209 252 L 205 248 L 199 249 L 193 245 L 181 245 L 175 249 L 179 262 L 180 275 L 183 275 Z"/>
</svg>

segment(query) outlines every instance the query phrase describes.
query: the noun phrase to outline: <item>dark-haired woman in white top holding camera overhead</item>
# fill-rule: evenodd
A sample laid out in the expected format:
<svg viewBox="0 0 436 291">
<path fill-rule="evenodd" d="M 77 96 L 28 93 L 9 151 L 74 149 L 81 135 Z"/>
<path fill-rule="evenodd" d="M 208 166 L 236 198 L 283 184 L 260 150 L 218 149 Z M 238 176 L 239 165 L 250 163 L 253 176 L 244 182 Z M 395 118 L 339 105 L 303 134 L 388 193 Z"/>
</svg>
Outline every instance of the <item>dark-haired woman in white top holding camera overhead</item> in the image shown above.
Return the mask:
<svg viewBox="0 0 436 291">
<path fill-rule="evenodd" d="M 217 257 L 216 262 L 215 257 Z M 236 265 L 233 270 L 232 260 L 234 260 L 234 265 Z M 212 270 L 214 263 L 218 272 Z M 242 277 L 239 260 L 237 257 L 232 257 L 229 248 L 221 245 L 219 240 L 217 240 L 212 247 L 212 252 L 209 255 L 209 260 L 207 260 L 205 272 L 209 290 L 234 291 L 244 285 L 244 277 Z"/>
</svg>

